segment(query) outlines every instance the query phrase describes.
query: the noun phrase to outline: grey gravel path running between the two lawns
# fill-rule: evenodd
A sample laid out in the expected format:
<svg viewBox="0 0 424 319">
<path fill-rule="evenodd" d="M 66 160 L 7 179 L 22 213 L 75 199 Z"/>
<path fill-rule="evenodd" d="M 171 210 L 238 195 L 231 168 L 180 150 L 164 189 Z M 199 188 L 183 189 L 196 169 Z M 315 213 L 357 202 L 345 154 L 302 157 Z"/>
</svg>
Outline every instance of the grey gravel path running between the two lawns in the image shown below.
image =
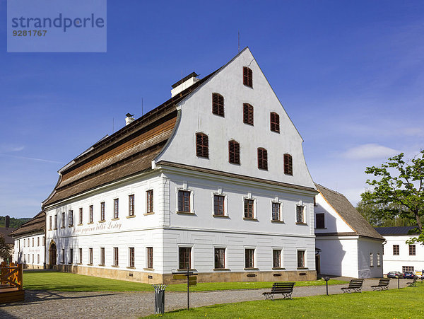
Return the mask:
<svg viewBox="0 0 424 319">
<path fill-rule="evenodd" d="M 410 279 L 401 279 L 401 287 Z M 378 279 L 365 279 L 364 291 Z M 271 283 L 270 283 L 271 285 Z M 341 286 L 330 285 L 329 294 L 341 294 Z M 390 289 L 397 288 L 397 279 L 391 279 Z M 263 300 L 262 292 L 269 289 L 232 291 L 204 291 L 190 294 L 192 307 L 216 303 Z M 293 297 L 315 296 L 326 293 L 325 286 L 295 287 Z M 187 306 L 184 292 L 165 292 L 165 311 Z M 0 318 L 138 318 L 154 313 L 153 292 L 61 292 L 25 291 L 25 303 L 0 304 Z"/>
</svg>

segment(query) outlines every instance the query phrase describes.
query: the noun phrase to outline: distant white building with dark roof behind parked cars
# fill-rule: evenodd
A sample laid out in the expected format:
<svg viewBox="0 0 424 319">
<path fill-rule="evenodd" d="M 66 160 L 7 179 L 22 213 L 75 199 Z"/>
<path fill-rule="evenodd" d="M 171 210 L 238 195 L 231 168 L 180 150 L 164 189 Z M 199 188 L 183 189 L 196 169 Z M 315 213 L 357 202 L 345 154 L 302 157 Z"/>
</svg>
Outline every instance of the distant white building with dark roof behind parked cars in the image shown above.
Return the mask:
<svg viewBox="0 0 424 319">
<path fill-rule="evenodd" d="M 416 226 L 376 227 L 384 237 L 384 274 L 388 272 L 416 272 L 424 269 L 424 245 L 409 245 L 406 240 L 417 238 Z"/>
</svg>

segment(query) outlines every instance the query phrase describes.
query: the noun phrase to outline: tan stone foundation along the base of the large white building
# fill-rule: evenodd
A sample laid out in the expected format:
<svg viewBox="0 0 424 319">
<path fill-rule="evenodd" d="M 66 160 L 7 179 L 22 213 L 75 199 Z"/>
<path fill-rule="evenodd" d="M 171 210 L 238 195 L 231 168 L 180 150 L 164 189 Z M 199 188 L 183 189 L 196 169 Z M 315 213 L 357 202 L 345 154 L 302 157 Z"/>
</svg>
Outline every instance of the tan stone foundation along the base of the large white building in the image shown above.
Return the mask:
<svg viewBox="0 0 424 319">
<path fill-rule="evenodd" d="M 181 280 L 173 280 L 172 274 L 155 274 L 140 272 L 136 269 L 110 269 L 84 265 L 54 265 L 59 272 L 73 272 L 88 276 L 142 282 L 144 284 L 180 284 Z M 249 277 L 248 277 L 249 276 Z M 314 270 L 276 271 L 276 272 L 200 272 L 197 282 L 299 282 L 317 279 Z"/>
</svg>

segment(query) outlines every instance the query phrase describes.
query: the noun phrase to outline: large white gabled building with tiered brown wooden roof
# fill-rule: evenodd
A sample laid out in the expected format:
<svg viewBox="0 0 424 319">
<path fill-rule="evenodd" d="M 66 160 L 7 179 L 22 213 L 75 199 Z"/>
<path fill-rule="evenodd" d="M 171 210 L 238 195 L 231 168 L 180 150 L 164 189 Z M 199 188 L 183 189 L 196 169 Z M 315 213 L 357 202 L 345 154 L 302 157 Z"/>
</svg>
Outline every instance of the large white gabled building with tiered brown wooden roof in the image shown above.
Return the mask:
<svg viewBox="0 0 424 319">
<path fill-rule="evenodd" d="M 50 267 L 169 283 L 316 278 L 302 137 L 248 48 L 59 170 Z"/>
</svg>

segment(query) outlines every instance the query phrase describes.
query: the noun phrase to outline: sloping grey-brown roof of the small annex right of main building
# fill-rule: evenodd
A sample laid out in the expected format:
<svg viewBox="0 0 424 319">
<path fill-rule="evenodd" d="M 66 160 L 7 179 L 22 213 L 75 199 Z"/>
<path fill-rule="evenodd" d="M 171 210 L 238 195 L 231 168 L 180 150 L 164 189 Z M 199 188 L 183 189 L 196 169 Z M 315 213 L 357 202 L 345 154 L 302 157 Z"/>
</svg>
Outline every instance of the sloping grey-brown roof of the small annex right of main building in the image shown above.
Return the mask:
<svg viewBox="0 0 424 319">
<path fill-rule="evenodd" d="M 315 186 L 326 202 L 328 202 L 336 213 L 346 221 L 348 226 L 353 228 L 356 235 L 384 240 L 384 238 L 372 228 L 370 223 L 359 214 L 359 211 L 353 207 L 351 202 L 349 202 L 343 194 L 330 190 L 317 183 L 315 183 Z"/>
</svg>

